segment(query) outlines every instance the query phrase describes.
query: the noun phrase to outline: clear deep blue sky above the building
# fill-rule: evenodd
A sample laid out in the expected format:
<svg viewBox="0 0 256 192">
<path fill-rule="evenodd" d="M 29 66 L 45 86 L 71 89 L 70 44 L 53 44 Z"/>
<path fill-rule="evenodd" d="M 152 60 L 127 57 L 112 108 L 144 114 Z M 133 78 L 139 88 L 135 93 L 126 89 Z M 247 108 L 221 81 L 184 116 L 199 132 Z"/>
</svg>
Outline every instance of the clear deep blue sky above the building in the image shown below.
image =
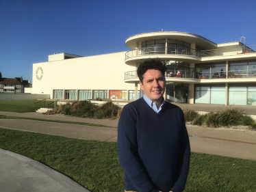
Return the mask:
<svg viewBox="0 0 256 192">
<path fill-rule="evenodd" d="M 215 43 L 256 44 L 255 0 L 0 0 L 0 72 L 32 80 L 53 53 L 129 51 L 125 39 L 152 31 L 196 33 Z M 125 58 L 124 58 L 125 59 Z"/>
</svg>

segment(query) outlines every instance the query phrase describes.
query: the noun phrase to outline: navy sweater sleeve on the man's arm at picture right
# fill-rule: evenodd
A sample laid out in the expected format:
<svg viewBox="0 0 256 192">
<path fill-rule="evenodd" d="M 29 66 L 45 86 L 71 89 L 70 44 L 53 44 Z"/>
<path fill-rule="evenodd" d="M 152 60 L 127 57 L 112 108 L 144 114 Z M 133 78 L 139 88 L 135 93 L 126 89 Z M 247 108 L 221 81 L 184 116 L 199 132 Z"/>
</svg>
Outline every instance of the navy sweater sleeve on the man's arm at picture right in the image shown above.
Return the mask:
<svg viewBox="0 0 256 192">
<path fill-rule="evenodd" d="M 177 166 L 177 178 L 173 192 L 181 192 L 185 189 L 185 182 L 188 178 L 188 171 L 190 169 L 190 140 L 188 138 L 188 131 L 185 127 L 185 119 L 181 111 L 182 128 L 179 139 L 179 164 Z"/>
</svg>

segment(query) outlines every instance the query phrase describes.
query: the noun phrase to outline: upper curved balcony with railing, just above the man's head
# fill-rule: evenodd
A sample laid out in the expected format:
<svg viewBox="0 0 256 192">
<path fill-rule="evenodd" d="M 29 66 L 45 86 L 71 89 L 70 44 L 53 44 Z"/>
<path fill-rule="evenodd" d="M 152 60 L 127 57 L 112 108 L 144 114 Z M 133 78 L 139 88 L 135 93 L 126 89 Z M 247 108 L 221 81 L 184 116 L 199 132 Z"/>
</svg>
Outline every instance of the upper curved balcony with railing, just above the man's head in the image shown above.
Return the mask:
<svg viewBox="0 0 256 192">
<path fill-rule="evenodd" d="M 125 53 L 125 63 L 129 65 L 134 65 L 135 61 L 143 61 L 150 57 L 159 59 L 173 59 L 175 61 L 200 61 L 200 51 L 196 49 L 190 49 L 185 47 L 146 47 L 143 49 L 135 49 L 132 51 L 127 51 Z"/>
</svg>

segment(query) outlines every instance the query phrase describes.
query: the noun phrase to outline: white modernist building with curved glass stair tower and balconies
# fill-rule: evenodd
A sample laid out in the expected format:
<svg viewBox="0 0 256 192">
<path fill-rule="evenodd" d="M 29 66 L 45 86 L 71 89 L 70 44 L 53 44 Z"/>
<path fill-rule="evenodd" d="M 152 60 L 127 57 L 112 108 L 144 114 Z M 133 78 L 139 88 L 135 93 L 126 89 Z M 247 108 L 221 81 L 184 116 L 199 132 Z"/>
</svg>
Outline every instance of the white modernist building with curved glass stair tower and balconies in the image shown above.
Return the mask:
<svg viewBox="0 0 256 192">
<path fill-rule="evenodd" d="M 136 70 L 145 59 L 157 57 L 168 68 L 166 100 L 256 105 L 256 46 L 215 44 L 176 31 L 138 34 L 125 44 L 133 50 L 90 57 L 49 55 L 49 61 L 33 64 L 32 94 L 61 100 L 136 100 L 143 95 Z"/>
</svg>

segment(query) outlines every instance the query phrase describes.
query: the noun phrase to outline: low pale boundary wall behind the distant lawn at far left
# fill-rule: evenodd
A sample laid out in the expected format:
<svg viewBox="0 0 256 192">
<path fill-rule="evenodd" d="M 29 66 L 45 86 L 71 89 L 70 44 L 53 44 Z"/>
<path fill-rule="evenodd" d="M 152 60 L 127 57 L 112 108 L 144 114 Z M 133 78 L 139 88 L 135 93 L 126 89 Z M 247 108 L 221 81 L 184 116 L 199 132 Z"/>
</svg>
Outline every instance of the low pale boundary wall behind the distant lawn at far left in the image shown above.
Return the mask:
<svg viewBox="0 0 256 192">
<path fill-rule="evenodd" d="M 1 93 L 0 100 L 35 100 L 35 99 L 49 99 L 49 94 L 8 94 Z"/>
</svg>

